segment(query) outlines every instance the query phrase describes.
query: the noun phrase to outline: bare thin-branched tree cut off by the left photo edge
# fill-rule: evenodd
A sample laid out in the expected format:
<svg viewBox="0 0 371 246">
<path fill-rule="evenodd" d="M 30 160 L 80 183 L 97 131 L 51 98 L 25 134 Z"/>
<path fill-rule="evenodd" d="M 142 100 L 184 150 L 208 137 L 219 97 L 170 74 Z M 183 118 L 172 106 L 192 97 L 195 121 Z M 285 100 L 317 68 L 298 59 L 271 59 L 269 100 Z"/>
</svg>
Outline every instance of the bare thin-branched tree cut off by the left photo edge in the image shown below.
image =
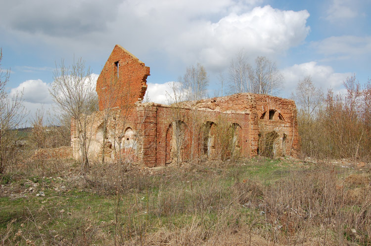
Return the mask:
<svg viewBox="0 0 371 246">
<path fill-rule="evenodd" d="M 8 98 L 6 84 L 10 70 L 1 69 L 2 49 L 0 48 L 0 174 L 5 171 L 12 159 L 16 146 L 16 131 L 23 121 L 26 111 L 23 106 L 22 94 Z"/>
</svg>

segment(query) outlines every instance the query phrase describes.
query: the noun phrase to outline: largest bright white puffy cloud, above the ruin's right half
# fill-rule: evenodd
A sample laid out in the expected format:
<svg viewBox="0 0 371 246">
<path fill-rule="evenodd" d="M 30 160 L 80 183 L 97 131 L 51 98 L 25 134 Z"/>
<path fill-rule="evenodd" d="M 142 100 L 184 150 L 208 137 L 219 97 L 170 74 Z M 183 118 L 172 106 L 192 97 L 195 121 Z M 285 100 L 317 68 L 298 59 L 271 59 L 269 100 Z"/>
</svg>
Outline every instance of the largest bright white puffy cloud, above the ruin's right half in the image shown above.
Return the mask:
<svg viewBox="0 0 371 246">
<path fill-rule="evenodd" d="M 199 21 L 166 43 L 169 54 L 186 63 L 199 61 L 220 69 L 241 48 L 250 56 L 276 55 L 299 45 L 309 34 L 309 13 L 282 11 L 267 5 L 241 14 L 230 13 L 219 21 Z"/>
</svg>

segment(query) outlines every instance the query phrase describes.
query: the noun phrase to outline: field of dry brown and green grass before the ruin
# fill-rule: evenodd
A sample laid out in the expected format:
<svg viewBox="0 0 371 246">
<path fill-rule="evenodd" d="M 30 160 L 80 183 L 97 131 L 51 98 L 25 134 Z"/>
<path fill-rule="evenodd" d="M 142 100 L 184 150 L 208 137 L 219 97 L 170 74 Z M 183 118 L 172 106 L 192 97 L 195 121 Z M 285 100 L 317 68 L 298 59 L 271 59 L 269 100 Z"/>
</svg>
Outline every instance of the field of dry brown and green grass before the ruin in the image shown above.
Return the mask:
<svg viewBox="0 0 371 246">
<path fill-rule="evenodd" d="M 1 176 L 3 245 L 370 245 L 370 165 L 252 158 Z"/>
</svg>

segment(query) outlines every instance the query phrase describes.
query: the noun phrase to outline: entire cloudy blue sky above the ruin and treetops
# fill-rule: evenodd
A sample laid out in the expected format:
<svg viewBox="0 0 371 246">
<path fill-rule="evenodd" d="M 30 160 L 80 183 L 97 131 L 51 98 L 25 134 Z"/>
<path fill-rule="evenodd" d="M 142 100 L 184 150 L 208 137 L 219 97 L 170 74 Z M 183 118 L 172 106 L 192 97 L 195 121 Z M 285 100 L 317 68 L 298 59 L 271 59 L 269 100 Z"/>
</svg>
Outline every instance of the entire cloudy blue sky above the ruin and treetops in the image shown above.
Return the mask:
<svg viewBox="0 0 371 246">
<path fill-rule="evenodd" d="M 210 96 L 228 80 L 232 58 L 243 50 L 274 61 L 284 76 L 277 95 L 288 98 L 312 76 L 326 92 L 342 92 L 356 75 L 367 82 L 371 65 L 370 0 L 0 0 L 1 69 L 7 91 L 23 91 L 30 115 L 53 109 L 48 93 L 56 65 L 82 58 L 97 78 L 115 44 L 146 66 L 149 101 L 188 66 L 202 64 Z M 224 86 L 226 91 L 226 86 Z"/>
</svg>

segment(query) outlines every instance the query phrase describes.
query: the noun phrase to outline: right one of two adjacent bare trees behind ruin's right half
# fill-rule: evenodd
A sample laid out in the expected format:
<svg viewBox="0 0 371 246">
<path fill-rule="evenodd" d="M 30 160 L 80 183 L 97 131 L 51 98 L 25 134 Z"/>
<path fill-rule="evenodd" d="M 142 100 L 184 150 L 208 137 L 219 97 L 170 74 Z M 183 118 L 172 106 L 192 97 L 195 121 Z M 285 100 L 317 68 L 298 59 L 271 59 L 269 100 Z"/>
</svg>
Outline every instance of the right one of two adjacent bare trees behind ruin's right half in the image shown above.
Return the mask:
<svg viewBox="0 0 371 246">
<path fill-rule="evenodd" d="M 283 75 L 279 72 L 276 63 L 265 56 L 255 59 L 256 67 L 249 71 L 249 79 L 252 83 L 252 93 L 276 94 L 282 87 Z"/>
</svg>

